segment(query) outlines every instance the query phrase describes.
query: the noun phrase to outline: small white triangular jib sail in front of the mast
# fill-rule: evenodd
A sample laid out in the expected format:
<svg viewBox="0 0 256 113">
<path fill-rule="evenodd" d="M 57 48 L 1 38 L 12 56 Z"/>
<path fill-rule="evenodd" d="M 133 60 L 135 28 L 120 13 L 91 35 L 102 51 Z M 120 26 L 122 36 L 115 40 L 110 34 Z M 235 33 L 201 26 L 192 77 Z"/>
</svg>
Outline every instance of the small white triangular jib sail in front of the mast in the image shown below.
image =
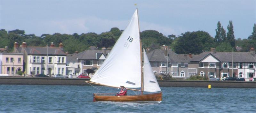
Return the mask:
<svg viewBox="0 0 256 113">
<path fill-rule="evenodd" d="M 157 92 L 161 91 L 156 76 L 152 71 L 152 67 L 149 63 L 148 56 L 145 49 L 143 49 L 143 78 L 144 78 L 144 91 L 146 92 Z"/>
</svg>

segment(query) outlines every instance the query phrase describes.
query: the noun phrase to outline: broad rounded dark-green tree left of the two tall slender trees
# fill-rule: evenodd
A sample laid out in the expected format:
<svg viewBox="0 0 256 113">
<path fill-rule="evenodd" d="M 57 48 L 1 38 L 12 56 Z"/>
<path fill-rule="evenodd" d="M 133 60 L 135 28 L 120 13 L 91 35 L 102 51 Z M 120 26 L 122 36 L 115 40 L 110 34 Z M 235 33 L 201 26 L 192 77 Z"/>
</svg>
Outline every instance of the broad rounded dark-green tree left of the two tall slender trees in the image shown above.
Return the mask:
<svg viewBox="0 0 256 113">
<path fill-rule="evenodd" d="M 200 54 L 211 47 L 214 47 L 214 39 L 204 31 L 182 33 L 171 45 L 177 54 Z"/>
</svg>

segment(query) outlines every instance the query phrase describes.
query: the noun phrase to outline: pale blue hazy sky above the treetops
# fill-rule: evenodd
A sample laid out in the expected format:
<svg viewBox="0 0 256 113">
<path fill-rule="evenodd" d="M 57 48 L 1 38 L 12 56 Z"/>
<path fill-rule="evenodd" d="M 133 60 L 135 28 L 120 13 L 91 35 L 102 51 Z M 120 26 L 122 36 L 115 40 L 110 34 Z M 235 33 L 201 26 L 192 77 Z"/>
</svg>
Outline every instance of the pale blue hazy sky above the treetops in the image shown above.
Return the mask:
<svg viewBox="0 0 256 113">
<path fill-rule="evenodd" d="M 113 27 L 124 30 L 136 8 L 140 31 L 165 36 L 202 30 L 214 37 L 218 21 L 228 32 L 231 20 L 235 38 L 247 39 L 256 23 L 256 0 L 0 0 L 0 29 L 36 36 L 101 34 Z"/>
</svg>

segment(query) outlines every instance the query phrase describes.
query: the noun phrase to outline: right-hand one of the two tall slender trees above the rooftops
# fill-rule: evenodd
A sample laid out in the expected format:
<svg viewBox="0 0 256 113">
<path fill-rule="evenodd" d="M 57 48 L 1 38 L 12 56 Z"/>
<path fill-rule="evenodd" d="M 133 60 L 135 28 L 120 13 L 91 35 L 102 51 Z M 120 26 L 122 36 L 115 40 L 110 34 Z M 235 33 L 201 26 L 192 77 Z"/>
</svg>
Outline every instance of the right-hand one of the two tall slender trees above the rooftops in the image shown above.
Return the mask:
<svg viewBox="0 0 256 113">
<path fill-rule="evenodd" d="M 236 42 L 235 42 L 235 35 L 234 35 L 234 30 L 233 30 L 233 24 L 232 21 L 229 21 L 229 25 L 227 27 L 228 33 L 227 33 L 227 41 L 230 43 L 232 47 L 235 47 Z"/>
</svg>

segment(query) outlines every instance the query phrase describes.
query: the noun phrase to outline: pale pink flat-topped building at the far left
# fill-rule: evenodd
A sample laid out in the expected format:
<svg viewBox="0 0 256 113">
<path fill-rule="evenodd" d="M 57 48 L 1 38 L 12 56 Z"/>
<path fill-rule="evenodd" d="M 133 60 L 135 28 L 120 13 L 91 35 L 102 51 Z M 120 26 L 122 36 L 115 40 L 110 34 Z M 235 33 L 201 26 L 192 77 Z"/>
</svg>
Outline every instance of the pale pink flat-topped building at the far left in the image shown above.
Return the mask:
<svg viewBox="0 0 256 113">
<path fill-rule="evenodd" d="M 16 75 L 23 71 L 22 53 L 0 53 L 0 75 Z"/>
</svg>

